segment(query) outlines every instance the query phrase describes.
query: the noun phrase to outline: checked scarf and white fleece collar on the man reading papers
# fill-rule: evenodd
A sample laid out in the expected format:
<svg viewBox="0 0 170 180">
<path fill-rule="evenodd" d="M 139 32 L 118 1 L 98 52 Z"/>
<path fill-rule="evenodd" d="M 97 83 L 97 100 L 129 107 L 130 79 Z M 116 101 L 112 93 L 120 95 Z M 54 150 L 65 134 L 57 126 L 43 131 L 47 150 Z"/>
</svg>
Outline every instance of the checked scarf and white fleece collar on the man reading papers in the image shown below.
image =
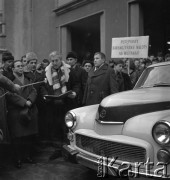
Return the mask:
<svg viewBox="0 0 170 180">
<path fill-rule="evenodd" d="M 60 95 L 67 91 L 66 82 L 69 79 L 70 66 L 62 61 L 59 69 L 54 69 L 50 63 L 46 69 L 46 77 L 50 85 L 53 86 L 54 94 Z"/>
</svg>

